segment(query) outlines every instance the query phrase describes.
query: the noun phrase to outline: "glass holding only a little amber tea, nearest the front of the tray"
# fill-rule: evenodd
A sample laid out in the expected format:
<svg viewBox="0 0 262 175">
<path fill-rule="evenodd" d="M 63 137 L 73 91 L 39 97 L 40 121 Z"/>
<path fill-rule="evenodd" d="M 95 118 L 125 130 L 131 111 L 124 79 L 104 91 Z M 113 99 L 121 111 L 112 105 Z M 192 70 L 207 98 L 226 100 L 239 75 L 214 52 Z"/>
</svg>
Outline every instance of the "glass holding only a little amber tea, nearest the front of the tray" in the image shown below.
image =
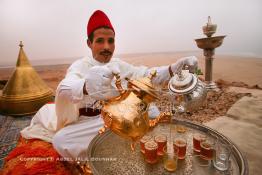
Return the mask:
<svg viewBox="0 0 262 175">
<path fill-rule="evenodd" d="M 164 148 L 164 168 L 169 172 L 174 172 L 177 169 L 178 160 L 178 149 L 174 148 L 173 151 L 168 150 L 167 147 Z"/>
</svg>

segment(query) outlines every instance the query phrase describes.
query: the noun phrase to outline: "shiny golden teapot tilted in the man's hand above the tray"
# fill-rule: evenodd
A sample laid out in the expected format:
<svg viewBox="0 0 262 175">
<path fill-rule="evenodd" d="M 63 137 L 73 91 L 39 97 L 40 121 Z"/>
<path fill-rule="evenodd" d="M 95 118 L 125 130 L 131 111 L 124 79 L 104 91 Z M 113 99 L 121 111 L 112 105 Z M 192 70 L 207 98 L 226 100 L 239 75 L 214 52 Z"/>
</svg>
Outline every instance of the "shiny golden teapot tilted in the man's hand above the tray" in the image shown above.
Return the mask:
<svg viewBox="0 0 262 175">
<path fill-rule="evenodd" d="M 128 88 L 124 90 L 120 76 L 115 75 L 115 84 L 120 95 L 102 102 L 101 115 L 105 128 L 110 128 L 115 134 L 135 142 L 165 116 L 160 114 L 155 119 L 148 117 L 149 104 L 158 99 L 151 82 L 154 76 L 156 76 L 155 71 L 148 77 L 138 80 L 126 78 Z"/>
</svg>

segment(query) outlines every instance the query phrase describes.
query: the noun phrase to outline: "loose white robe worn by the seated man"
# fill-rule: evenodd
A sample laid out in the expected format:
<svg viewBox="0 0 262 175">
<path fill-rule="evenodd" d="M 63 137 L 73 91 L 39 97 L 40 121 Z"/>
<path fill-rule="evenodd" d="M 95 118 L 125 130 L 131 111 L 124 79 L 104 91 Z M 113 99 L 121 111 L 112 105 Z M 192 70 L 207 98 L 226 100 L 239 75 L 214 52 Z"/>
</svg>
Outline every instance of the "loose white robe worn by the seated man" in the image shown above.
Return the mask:
<svg viewBox="0 0 262 175">
<path fill-rule="evenodd" d="M 125 77 L 137 79 L 151 71 L 145 66 L 133 66 L 118 58 L 112 58 L 110 64 L 118 65 L 124 84 Z M 58 85 L 55 104 L 44 105 L 33 117 L 30 126 L 21 131 L 21 135 L 27 139 L 39 138 L 52 142 L 58 153 L 65 158 L 86 159 L 89 143 L 103 126 L 100 115 L 79 116 L 79 108 L 88 107 L 95 101 L 83 94 L 87 70 L 95 65 L 103 63 L 90 57 L 75 61 Z M 153 117 L 159 115 L 158 109 L 151 109 Z"/>
</svg>

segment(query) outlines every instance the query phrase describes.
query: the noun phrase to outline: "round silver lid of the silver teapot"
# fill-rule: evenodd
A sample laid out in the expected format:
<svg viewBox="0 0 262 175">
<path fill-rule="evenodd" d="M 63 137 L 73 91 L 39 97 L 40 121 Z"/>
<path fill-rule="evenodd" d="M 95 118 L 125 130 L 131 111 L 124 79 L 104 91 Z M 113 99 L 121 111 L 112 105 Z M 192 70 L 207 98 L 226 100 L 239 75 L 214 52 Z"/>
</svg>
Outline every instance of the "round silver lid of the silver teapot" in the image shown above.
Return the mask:
<svg viewBox="0 0 262 175">
<path fill-rule="evenodd" d="M 168 88 L 174 93 L 187 94 L 195 88 L 196 84 L 197 77 L 188 70 L 182 70 L 171 78 Z"/>
</svg>

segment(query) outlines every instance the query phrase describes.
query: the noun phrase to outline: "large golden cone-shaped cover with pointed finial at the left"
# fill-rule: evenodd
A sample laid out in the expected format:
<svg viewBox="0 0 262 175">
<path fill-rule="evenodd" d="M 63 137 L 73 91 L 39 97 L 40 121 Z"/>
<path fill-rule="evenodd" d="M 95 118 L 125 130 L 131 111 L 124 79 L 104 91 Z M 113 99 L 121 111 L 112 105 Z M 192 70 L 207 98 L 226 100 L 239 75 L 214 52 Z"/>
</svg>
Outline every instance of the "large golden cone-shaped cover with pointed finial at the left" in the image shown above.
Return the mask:
<svg viewBox="0 0 262 175">
<path fill-rule="evenodd" d="M 53 91 L 27 59 L 22 41 L 19 46 L 16 68 L 0 96 L 0 113 L 4 115 L 31 115 L 53 99 Z"/>
</svg>

